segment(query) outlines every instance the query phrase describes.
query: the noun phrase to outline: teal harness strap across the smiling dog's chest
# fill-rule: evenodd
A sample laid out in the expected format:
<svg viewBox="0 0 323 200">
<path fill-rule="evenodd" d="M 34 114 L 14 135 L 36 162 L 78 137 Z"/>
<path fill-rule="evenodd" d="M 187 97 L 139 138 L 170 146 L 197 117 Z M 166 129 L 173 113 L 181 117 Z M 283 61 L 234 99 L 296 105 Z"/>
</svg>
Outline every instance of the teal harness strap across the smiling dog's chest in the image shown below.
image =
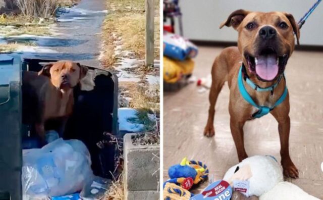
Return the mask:
<svg viewBox="0 0 323 200">
<path fill-rule="evenodd" d="M 250 96 L 250 94 L 248 93 L 248 91 L 246 90 L 244 84 L 243 84 L 243 77 L 242 77 L 242 68 L 243 65 L 241 65 L 240 70 L 239 70 L 239 74 L 238 74 L 238 88 L 240 91 L 240 94 L 242 95 L 242 97 L 252 106 L 256 107 L 258 109 L 258 111 L 254 114 L 251 115 L 250 119 L 254 119 L 254 118 L 260 118 L 264 115 L 267 115 L 269 112 L 271 112 L 276 106 L 280 105 L 281 103 L 283 103 L 285 101 L 285 98 L 287 96 L 288 93 L 288 89 L 287 86 L 285 85 L 285 90 L 283 92 L 283 94 L 281 95 L 281 97 L 277 100 L 277 102 L 274 104 L 273 107 L 266 107 L 266 106 L 259 106 L 257 105 L 252 97 Z"/>
</svg>

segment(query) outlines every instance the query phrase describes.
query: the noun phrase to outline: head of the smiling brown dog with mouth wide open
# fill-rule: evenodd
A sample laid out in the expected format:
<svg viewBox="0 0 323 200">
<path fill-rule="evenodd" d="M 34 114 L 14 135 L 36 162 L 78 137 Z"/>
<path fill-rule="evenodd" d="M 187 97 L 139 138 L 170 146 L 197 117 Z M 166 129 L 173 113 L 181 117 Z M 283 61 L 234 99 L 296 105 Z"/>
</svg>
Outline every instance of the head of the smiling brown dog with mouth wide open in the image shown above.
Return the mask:
<svg viewBox="0 0 323 200">
<path fill-rule="evenodd" d="M 272 81 L 284 72 L 294 51 L 294 33 L 299 43 L 299 27 L 289 13 L 237 10 L 220 28 L 223 26 L 239 32 L 243 63 L 261 81 Z"/>
</svg>

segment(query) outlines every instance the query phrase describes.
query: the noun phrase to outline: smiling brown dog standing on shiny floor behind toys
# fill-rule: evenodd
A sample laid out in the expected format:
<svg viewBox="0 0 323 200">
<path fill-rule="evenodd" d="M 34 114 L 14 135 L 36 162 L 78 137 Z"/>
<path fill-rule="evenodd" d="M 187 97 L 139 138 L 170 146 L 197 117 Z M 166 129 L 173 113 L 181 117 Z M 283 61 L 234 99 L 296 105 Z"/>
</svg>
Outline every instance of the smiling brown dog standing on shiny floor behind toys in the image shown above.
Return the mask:
<svg viewBox="0 0 323 200">
<path fill-rule="evenodd" d="M 239 162 L 247 158 L 244 148 L 243 126 L 257 109 L 245 101 L 240 94 L 237 77 L 243 62 L 250 80 L 259 87 L 270 87 L 278 82 L 274 92 L 256 91 L 246 84 L 246 90 L 253 101 L 260 106 L 272 107 L 281 97 L 285 89 L 285 79 L 279 78 L 285 70 L 288 58 L 295 46 L 294 33 L 299 40 L 299 27 L 293 16 L 281 12 L 249 12 L 237 10 L 220 26 L 232 26 L 238 31 L 238 47 L 225 48 L 216 58 L 212 66 L 212 85 L 209 93 L 210 107 L 204 135 L 214 135 L 214 106 L 225 81 L 230 88 L 230 128 L 237 148 Z M 289 155 L 289 94 L 283 103 L 270 113 L 278 121 L 281 143 L 281 157 L 284 175 L 297 178 L 298 170 Z"/>
</svg>

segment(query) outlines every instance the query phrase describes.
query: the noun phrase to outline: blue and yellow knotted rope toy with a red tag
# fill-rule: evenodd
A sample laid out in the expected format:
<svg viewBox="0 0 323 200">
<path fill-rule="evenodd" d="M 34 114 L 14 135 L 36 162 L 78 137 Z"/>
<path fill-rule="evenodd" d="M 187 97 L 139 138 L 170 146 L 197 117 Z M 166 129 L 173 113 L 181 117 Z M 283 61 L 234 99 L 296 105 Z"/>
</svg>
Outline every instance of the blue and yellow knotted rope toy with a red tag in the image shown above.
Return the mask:
<svg viewBox="0 0 323 200">
<path fill-rule="evenodd" d="M 170 179 L 164 183 L 164 187 L 166 183 L 175 183 L 189 190 L 194 184 L 196 185 L 207 179 L 208 169 L 202 162 L 187 161 L 187 158 L 184 158 L 180 164 L 170 167 L 168 175 Z"/>
</svg>

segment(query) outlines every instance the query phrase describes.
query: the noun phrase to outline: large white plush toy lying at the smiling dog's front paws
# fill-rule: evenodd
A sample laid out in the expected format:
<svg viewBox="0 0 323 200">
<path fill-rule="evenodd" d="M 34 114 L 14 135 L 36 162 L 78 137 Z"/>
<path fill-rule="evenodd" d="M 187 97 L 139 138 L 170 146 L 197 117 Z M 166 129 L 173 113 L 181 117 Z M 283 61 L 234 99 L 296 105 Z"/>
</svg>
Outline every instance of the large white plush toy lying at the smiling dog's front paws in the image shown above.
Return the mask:
<svg viewBox="0 0 323 200">
<path fill-rule="evenodd" d="M 284 182 L 279 163 L 271 156 L 253 156 L 231 167 L 224 180 L 233 186 L 234 180 L 249 181 L 249 196 L 260 200 L 319 200 L 298 186 Z"/>
</svg>

